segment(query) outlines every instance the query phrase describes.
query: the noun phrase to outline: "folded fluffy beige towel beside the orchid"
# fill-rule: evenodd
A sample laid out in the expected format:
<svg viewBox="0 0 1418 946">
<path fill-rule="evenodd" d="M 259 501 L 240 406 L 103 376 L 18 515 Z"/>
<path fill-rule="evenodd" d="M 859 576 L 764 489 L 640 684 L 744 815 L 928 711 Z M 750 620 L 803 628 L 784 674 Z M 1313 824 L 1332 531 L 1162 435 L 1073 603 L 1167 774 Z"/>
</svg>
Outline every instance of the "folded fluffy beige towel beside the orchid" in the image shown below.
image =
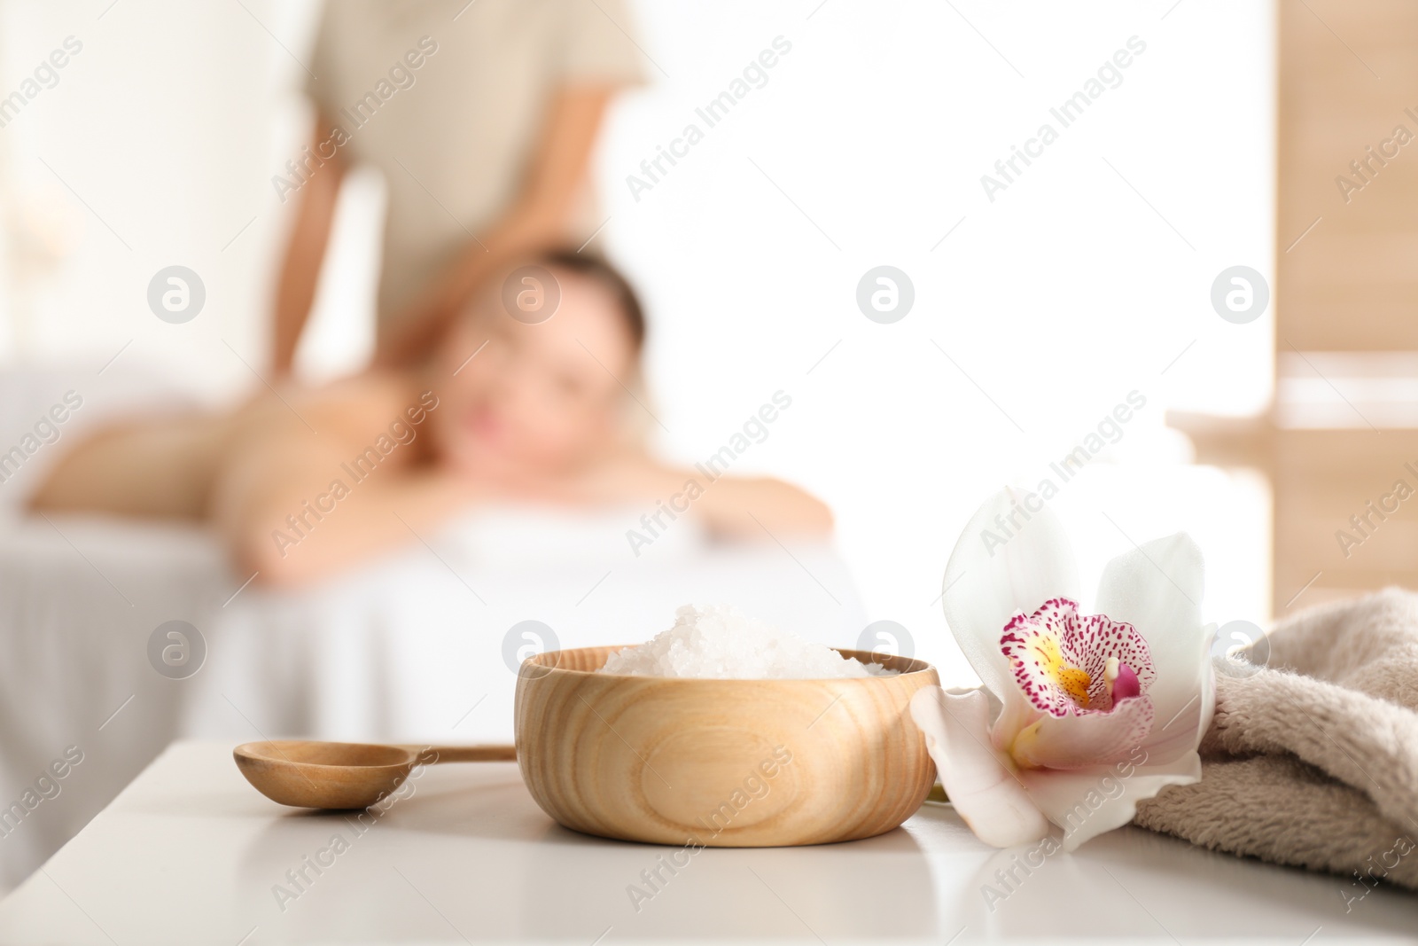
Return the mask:
<svg viewBox="0 0 1418 946">
<path fill-rule="evenodd" d="M 1418 889 L 1418 594 L 1309 608 L 1268 642 L 1265 669 L 1217 661 L 1201 781 L 1140 803 L 1136 824 L 1349 877 L 1354 898 Z"/>
</svg>

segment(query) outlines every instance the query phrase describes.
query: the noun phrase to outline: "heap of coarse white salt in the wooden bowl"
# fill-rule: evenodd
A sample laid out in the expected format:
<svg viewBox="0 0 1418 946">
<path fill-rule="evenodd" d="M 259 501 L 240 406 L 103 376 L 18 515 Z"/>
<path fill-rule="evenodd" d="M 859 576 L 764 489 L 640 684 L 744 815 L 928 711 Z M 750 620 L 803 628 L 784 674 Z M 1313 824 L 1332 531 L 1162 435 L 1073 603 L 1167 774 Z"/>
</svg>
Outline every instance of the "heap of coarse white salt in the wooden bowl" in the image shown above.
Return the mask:
<svg viewBox="0 0 1418 946">
<path fill-rule="evenodd" d="M 675 625 L 638 647 L 605 660 L 601 674 L 698 677 L 713 679 L 830 679 L 895 677 L 881 664 L 862 664 L 830 647 L 744 617 L 725 604 L 675 611 Z"/>
</svg>

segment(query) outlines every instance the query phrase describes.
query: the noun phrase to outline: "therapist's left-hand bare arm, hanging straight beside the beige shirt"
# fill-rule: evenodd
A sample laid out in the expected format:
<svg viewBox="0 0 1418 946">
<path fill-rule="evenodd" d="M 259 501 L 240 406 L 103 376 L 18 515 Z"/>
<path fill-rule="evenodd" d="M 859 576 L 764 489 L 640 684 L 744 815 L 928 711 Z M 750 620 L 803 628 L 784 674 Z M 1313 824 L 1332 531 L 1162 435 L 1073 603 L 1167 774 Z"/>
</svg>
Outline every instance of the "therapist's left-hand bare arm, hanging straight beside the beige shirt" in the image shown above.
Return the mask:
<svg viewBox="0 0 1418 946">
<path fill-rule="evenodd" d="M 320 115 L 315 122 L 312 152 L 325 140 L 320 129 L 330 128 Z M 275 350 L 272 367 L 278 377 L 291 373 L 295 349 L 301 343 L 301 332 L 311 318 L 315 302 L 315 288 L 320 281 L 320 265 L 330 243 L 330 223 L 335 218 L 335 201 L 345 179 L 345 159 L 339 152 L 325 162 L 295 193 L 298 201 L 291 241 L 281 262 L 281 277 L 275 294 Z"/>
</svg>

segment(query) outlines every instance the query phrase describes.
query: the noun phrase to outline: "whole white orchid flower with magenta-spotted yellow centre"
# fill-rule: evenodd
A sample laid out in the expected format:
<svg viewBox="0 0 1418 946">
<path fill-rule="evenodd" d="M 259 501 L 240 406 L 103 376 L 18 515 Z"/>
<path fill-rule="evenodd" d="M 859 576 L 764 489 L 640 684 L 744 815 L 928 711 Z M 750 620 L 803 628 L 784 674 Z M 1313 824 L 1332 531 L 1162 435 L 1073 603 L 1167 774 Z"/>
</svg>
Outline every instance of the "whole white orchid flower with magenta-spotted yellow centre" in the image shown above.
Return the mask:
<svg viewBox="0 0 1418 946">
<path fill-rule="evenodd" d="M 956 811 L 994 847 L 1052 823 L 1071 851 L 1201 779 L 1215 681 L 1197 543 L 1178 532 L 1113 559 L 1096 614 L 1076 586 L 1058 519 L 1014 489 L 976 512 L 946 566 L 946 621 L 984 686 L 925 688 L 910 715 Z"/>
</svg>

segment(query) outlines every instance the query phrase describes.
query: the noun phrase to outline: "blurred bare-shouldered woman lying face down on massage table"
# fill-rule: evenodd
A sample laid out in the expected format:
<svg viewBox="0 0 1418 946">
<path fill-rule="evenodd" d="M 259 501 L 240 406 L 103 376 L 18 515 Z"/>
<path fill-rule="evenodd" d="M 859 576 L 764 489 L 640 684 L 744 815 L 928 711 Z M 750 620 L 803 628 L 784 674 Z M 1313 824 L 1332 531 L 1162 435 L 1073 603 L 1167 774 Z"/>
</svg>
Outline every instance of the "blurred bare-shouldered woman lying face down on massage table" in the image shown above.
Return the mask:
<svg viewBox="0 0 1418 946">
<path fill-rule="evenodd" d="M 484 291 L 420 369 L 99 430 L 31 505 L 210 521 L 237 567 L 271 584 L 330 574 L 489 503 L 642 505 L 627 533 L 637 555 L 637 535 L 648 545 L 679 515 L 729 538 L 831 529 L 827 506 L 801 489 L 723 475 L 736 441 L 766 433 L 781 394 L 693 469 L 655 462 L 628 433 L 648 418 L 632 393 L 645 336 L 634 291 L 591 257 L 529 264 L 542 279 L 513 284 L 506 299 L 501 285 Z M 545 321 L 519 308 L 550 309 L 537 294 L 557 291 Z"/>
</svg>

